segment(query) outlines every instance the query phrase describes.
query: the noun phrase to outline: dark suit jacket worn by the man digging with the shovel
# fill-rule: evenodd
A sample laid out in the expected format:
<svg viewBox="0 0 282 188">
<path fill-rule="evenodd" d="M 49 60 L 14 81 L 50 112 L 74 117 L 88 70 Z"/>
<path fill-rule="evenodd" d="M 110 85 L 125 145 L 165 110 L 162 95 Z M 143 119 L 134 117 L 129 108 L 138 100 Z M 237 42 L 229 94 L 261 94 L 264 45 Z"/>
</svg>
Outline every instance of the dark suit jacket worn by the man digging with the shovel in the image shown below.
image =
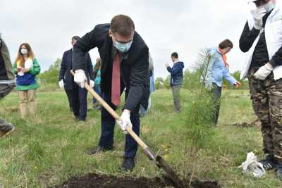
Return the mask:
<svg viewBox="0 0 282 188">
<path fill-rule="evenodd" d="M 75 44 L 73 48 L 73 69 L 78 70 L 85 66 L 83 54 L 90 49 L 98 48 L 102 59 L 101 89 L 106 94 L 111 94 L 111 75 L 114 62 L 113 41 L 109 36 L 110 24 L 96 25 L 94 30 L 87 33 Z M 121 89 L 126 87 L 128 97 L 124 108 L 130 111 L 141 103 L 147 106 L 149 98 L 149 55 L 148 47 L 135 32 L 133 44 L 126 53 L 127 58 L 121 62 Z"/>
</svg>

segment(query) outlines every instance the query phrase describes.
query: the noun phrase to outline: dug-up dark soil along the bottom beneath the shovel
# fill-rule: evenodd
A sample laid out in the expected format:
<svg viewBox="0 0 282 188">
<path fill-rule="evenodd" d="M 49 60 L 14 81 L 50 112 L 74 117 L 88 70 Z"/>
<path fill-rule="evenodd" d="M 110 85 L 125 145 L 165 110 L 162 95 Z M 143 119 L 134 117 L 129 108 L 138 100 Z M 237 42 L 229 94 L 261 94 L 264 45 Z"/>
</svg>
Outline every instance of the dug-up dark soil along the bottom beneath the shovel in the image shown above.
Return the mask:
<svg viewBox="0 0 282 188">
<path fill-rule="evenodd" d="M 189 182 L 183 181 L 186 187 Z M 116 177 L 111 175 L 98 175 L 95 173 L 87 174 L 82 177 L 71 177 L 56 188 L 159 188 L 175 187 L 169 178 L 154 177 Z M 213 181 L 195 181 L 192 182 L 194 188 L 219 188 L 219 184 Z"/>
</svg>

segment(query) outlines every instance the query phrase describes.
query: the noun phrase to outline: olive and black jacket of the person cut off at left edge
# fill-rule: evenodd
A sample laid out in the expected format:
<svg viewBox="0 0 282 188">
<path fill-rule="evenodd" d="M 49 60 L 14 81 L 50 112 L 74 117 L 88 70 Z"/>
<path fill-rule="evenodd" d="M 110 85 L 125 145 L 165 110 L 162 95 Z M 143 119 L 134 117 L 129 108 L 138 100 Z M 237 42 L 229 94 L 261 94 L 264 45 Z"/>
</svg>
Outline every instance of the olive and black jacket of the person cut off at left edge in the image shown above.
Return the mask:
<svg viewBox="0 0 282 188">
<path fill-rule="evenodd" d="M 13 80 L 13 65 L 11 63 L 8 48 L 3 39 L 0 38 L 0 80 Z"/>
</svg>

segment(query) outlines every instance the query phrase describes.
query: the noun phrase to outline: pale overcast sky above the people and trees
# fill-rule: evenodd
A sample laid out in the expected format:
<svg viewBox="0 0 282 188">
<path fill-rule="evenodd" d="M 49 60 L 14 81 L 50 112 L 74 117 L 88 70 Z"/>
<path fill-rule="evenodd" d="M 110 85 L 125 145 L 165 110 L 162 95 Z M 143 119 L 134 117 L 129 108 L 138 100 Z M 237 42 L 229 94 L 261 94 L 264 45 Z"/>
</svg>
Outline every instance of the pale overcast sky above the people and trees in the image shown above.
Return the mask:
<svg viewBox="0 0 282 188">
<path fill-rule="evenodd" d="M 244 54 L 238 40 L 246 22 L 246 0 L 0 0 L 0 32 L 14 61 L 18 46 L 32 46 L 42 70 L 71 49 L 71 37 L 83 36 L 94 25 L 109 23 L 117 14 L 129 15 L 149 46 L 155 77 L 166 77 L 164 63 L 177 51 L 185 68 L 204 47 L 231 39 L 231 72 L 240 70 Z M 90 51 L 92 62 L 99 54 Z"/>
</svg>

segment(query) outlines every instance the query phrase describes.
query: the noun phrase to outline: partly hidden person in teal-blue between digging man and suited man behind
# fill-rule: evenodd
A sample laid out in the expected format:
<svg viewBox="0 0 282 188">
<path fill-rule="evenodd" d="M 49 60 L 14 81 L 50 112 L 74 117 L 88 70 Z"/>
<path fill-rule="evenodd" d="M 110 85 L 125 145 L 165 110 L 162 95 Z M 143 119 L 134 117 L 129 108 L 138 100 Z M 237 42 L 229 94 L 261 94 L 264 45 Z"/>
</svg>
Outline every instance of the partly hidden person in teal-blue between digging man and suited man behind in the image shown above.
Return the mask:
<svg viewBox="0 0 282 188">
<path fill-rule="evenodd" d="M 101 96 L 101 66 L 102 61 L 101 58 L 97 58 L 96 65 L 94 67 L 94 91 Z M 93 97 L 93 108 L 95 110 L 101 110 L 101 105 L 99 102 Z"/>
</svg>

